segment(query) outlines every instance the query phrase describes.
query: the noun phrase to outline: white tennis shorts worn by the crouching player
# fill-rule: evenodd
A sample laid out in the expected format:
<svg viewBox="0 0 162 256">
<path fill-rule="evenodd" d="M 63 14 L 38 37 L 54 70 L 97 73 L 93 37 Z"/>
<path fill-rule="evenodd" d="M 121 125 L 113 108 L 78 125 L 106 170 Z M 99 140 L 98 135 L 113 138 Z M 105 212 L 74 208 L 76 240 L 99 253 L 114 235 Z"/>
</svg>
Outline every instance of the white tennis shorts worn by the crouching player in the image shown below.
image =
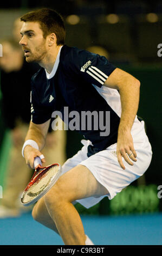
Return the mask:
<svg viewBox="0 0 162 256">
<path fill-rule="evenodd" d="M 130 166 L 124 158 L 122 158 L 126 168 L 125 170 L 119 165 L 116 156 L 116 143 L 90 157 L 87 157 L 87 147 L 88 145 L 92 145 L 92 143 L 85 139 L 82 139 L 81 143 L 83 144 L 82 149 L 63 164 L 62 174 L 78 164 L 82 164 L 86 166 L 95 176 L 96 180 L 109 191 L 109 194 L 105 196 L 98 198 L 88 197 L 76 201 L 86 208 L 90 208 L 99 203 L 103 197 L 107 196 L 110 200 L 113 199 L 123 188 L 127 187 L 131 182 L 138 179 L 146 172 L 152 159 L 151 145 L 145 132 L 140 141 L 134 142 L 134 149 L 137 152 L 137 162 L 133 162 L 133 166 Z"/>
</svg>

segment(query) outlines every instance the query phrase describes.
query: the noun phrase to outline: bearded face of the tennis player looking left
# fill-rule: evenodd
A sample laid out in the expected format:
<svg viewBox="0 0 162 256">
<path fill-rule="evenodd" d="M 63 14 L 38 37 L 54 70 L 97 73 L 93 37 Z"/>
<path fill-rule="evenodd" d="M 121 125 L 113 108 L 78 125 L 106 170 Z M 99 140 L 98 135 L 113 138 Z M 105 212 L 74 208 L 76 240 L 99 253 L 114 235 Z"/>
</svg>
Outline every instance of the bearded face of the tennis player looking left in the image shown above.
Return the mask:
<svg viewBox="0 0 162 256">
<path fill-rule="evenodd" d="M 23 22 L 21 28 L 22 45 L 27 62 L 42 62 L 47 54 L 46 39 L 38 22 Z"/>
</svg>

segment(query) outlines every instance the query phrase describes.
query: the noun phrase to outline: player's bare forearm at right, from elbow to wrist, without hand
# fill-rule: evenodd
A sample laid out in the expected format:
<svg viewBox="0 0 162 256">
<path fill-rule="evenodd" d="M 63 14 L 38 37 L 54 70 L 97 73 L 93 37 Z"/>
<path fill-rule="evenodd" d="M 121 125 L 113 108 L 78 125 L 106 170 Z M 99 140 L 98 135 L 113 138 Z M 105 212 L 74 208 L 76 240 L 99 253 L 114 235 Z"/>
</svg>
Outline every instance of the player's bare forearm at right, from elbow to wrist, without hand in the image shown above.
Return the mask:
<svg viewBox="0 0 162 256">
<path fill-rule="evenodd" d="M 121 99 L 119 132 L 121 130 L 131 131 L 139 106 L 140 82 L 131 77 L 131 79 L 126 79 L 124 84 L 118 88 Z"/>
</svg>

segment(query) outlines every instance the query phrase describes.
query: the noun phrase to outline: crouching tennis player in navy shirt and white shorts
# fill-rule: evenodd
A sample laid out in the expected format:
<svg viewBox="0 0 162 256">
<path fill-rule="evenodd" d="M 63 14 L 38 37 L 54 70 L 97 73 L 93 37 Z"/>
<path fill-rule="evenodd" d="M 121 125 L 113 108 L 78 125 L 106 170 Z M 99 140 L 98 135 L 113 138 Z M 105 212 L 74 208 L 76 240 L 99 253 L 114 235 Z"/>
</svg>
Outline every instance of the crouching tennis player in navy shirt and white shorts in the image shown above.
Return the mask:
<svg viewBox="0 0 162 256">
<path fill-rule="evenodd" d="M 42 155 L 56 110 L 69 127 L 74 113 L 79 113 L 77 127 L 85 138 L 81 150 L 63 164 L 56 184 L 34 206 L 33 217 L 60 234 L 65 245 L 93 245 L 75 202 L 90 208 L 103 197 L 113 199 L 144 174 L 151 162 L 144 121 L 137 117 L 140 82 L 103 56 L 65 45 L 64 22 L 54 10 L 32 11 L 21 20 L 25 58 L 41 66 L 31 81 L 31 122 L 23 147 L 26 163 L 34 168 L 34 158 Z M 71 118 L 63 115 L 64 107 Z M 105 114 L 108 134 L 100 124 L 96 129 L 95 121 L 92 129 L 87 124 L 82 129 L 82 113 L 88 111 Z"/>
</svg>

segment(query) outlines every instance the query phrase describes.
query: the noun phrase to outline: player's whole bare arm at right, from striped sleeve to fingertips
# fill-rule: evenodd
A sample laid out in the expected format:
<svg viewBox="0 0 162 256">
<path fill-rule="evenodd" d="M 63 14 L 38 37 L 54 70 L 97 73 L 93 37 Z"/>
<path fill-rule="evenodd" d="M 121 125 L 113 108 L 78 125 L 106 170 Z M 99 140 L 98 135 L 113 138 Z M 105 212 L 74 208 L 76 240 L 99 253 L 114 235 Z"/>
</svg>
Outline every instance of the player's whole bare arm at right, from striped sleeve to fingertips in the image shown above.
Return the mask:
<svg viewBox="0 0 162 256">
<path fill-rule="evenodd" d="M 127 72 L 116 68 L 112 74 L 109 75 L 104 86 L 118 89 L 120 93 L 121 118 L 118 129 L 116 154 L 118 156 L 120 166 L 125 169 L 124 163 L 122 162 L 122 157 L 124 157 L 125 161 L 130 165 L 133 165 L 130 159 L 132 161 L 137 161 L 137 153 L 134 150 L 131 129 L 134 123 L 135 115 L 138 111 L 140 82 L 137 80 L 137 78 L 133 77 Z M 128 155 L 130 156 L 128 157 Z"/>
</svg>

